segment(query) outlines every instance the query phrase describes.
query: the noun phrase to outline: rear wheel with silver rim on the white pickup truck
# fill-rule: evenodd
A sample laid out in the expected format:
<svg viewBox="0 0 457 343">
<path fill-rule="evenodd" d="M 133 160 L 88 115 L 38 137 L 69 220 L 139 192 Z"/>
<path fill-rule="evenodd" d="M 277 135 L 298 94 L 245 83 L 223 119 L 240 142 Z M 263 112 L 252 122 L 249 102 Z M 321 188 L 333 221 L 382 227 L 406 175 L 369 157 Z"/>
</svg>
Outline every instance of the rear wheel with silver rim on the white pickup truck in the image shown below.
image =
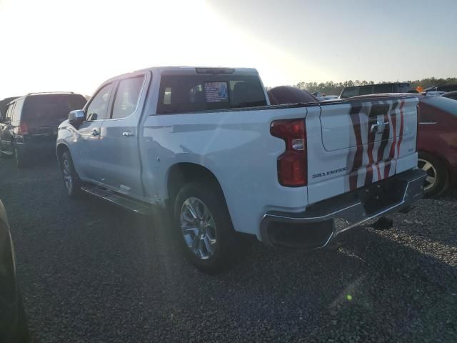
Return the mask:
<svg viewBox="0 0 457 343">
<path fill-rule="evenodd" d="M 174 202 L 174 227 L 184 254 L 202 272 L 222 272 L 240 255 L 224 195 L 212 184 L 184 184 Z"/>
</svg>

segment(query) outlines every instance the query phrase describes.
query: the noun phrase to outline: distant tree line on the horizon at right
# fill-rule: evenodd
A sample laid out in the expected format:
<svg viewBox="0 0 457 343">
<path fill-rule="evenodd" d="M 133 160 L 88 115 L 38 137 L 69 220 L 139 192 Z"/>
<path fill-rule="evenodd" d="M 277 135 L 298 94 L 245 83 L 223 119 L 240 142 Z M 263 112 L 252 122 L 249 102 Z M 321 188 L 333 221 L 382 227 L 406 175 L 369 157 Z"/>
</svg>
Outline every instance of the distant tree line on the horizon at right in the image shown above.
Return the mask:
<svg viewBox="0 0 457 343">
<path fill-rule="evenodd" d="M 385 84 L 388 82 L 398 82 L 398 81 L 381 81 L 376 82 L 376 84 Z M 405 81 L 411 84 L 411 89 L 416 89 L 417 86 L 423 87 L 426 89 L 431 86 L 438 86 L 440 84 L 457 84 L 457 77 L 448 77 L 446 79 L 436 79 L 435 77 L 430 77 L 427 79 L 415 80 L 415 81 Z M 349 86 L 366 86 L 368 84 L 375 84 L 373 81 L 359 81 L 359 80 L 348 80 L 344 82 L 333 82 L 333 81 L 326 81 L 326 82 L 298 82 L 294 86 L 298 89 L 304 89 L 313 93 L 315 91 L 320 91 L 323 94 L 327 95 L 339 95 L 344 87 Z"/>
</svg>

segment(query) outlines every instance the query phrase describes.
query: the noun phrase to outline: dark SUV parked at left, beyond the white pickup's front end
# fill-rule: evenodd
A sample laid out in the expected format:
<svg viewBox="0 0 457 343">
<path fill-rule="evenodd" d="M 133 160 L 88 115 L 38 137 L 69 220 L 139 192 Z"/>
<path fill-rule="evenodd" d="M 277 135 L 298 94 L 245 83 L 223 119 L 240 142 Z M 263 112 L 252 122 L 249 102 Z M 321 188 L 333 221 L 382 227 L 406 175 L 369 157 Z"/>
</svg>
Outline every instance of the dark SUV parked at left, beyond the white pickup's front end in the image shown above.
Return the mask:
<svg viewBox="0 0 457 343">
<path fill-rule="evenodd" d="M 86 99 L 74 93 L 31 93 L 11 101 L 0 119 L 0 153 L 24 166 L 37 154 L 53 154 L 57 127 Z"/>
</svg>

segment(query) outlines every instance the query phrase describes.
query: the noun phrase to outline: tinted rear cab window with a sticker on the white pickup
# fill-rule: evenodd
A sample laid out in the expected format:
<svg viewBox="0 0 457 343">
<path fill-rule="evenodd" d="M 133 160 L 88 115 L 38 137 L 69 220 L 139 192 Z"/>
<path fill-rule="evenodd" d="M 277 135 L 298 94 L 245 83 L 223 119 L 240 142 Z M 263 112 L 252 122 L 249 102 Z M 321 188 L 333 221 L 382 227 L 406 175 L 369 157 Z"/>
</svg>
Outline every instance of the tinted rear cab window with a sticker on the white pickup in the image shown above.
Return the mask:
<svg viewBox="0 0 457 343">
<path fill-rule="evenodd" d="M 157 114 L 186 113 L 266 106 L 258 76 L 161 76 Z"/>
</svg>

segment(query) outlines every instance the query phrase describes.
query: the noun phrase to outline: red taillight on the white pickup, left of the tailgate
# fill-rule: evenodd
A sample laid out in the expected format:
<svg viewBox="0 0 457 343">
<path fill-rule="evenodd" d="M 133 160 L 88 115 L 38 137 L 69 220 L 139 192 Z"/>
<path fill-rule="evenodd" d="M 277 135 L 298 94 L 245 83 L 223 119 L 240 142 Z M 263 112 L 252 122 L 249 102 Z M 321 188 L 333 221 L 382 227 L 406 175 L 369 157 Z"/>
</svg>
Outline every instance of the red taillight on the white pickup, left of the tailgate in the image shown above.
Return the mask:
<svg viewBox="0 0 457 343">
<path fill-rule="evenodd" d="M 305 121 L 303 119 L 273 121 L 270 133 L 286 142 L 286 151 L 278 157 L 279 183 L 286 187 L 306 186 L 308 180 Z"/>
</svg>

